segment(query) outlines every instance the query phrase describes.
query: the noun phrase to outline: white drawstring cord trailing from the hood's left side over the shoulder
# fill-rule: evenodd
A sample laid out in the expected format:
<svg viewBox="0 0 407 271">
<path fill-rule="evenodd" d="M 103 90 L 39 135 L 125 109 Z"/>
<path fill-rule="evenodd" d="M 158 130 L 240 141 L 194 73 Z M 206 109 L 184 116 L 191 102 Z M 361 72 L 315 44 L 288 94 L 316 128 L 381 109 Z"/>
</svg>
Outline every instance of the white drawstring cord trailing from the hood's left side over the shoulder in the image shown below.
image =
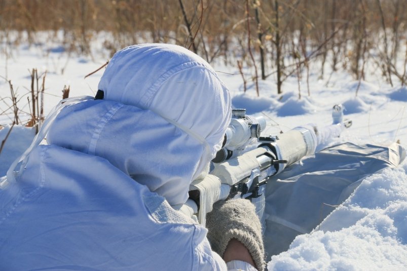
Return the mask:
<svg viewBox="0 0 407 271">
<path fill-rule="evenodd" d="M 21 154 L 20 157 L 18 157 L 14 162 L 11 164 L 9 170 L 7 171 L 7 178 L 3 182 L 0 182 L 0 189 L 4 188 L 7 186 L 8 183 L 13 183 L 16 182 L 16 177 L 19 175 L 19 173 L 22 171 L 22 169 L 25 168 L 27 164 L 27 157 L 31 153 L 31 151 L 38 145 L 40 145 L 41 141 L 45 138 L 47 135 L 51 124 L 54 122 L 55 118 L 57 117 L 58 113 L 64 108 L 65 106 L 75 104 L 81 101 L 89 100 L 89 99 L 94 99 L 91 96 L 80 96 L 80 97 L 72 97 L 72 98 L 66 98 L 61 100 L 54 108 L 51 109 L 50 113 L 48 114 L 43 126 L 41 127 L 40 132 L 36 134 L 34 139 L 31 142 L 31 145 L 24 151 L 23 154 Z M 18 163 L 21 162 L 20 168 L 15 171 Z"/>
</svg>

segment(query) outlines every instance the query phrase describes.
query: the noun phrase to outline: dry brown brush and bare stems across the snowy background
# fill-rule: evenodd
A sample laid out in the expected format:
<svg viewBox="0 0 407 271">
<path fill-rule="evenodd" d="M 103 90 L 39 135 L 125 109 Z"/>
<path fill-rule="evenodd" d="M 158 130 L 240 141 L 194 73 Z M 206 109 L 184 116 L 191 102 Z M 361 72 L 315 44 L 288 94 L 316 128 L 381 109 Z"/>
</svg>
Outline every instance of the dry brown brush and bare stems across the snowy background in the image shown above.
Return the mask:
<svg viewBox="0 0 407 271">
<path fill-rule="evenodd" d="M 312 65 L 327 82 L 327 66 L 360 82 L 374 63 L 390 85 L 404 85 L 406 8 L 405 0 L 0 0 L 0 41 L 13 46 L 25 36 L 35 44 L 36 33 L 49 31 L 65 51 L 90 56 L 101 33 L 112 55 L 137 43 L 173 43 L 208 62 L 252 67 L 253 82 L 273 76 L 278 93 L 288 76 L 307 76 L 310 95 Z"/>
</svg>

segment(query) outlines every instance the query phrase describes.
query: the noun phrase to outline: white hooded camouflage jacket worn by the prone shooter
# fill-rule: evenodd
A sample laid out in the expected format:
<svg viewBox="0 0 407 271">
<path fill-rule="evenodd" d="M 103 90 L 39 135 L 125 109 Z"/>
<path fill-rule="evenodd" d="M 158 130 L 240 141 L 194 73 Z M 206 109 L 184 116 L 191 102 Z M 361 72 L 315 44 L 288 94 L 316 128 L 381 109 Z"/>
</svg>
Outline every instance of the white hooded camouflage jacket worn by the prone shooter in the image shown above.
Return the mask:
<svg viewBox="0 0 407 271">
<path fill-rule="evenodd" d="M 0 269 L 226 269 L 170 205 L 221 146 L 227 88 L 197 55 L 157 44 L 116 53 L 98 88 L 0 190 Z"/>
</svg>

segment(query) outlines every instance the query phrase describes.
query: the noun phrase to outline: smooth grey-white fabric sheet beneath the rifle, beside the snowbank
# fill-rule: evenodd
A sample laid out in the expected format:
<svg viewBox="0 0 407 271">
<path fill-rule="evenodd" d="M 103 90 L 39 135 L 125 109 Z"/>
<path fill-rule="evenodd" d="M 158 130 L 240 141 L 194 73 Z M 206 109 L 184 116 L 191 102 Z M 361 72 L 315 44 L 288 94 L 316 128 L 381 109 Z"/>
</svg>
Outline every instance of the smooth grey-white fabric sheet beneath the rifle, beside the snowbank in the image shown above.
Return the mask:
<svg viewBox="0 0 407 271">
<path fill-rule="evenodd" d="M 268 256 L 287 250 L 296 236 L 310 233 L 366 176 L 396 167 L 404 158 L 405 150 L 397 143 L 343 143 L 304 157 L 273 176 L 266 185 Z"/>
</svg>

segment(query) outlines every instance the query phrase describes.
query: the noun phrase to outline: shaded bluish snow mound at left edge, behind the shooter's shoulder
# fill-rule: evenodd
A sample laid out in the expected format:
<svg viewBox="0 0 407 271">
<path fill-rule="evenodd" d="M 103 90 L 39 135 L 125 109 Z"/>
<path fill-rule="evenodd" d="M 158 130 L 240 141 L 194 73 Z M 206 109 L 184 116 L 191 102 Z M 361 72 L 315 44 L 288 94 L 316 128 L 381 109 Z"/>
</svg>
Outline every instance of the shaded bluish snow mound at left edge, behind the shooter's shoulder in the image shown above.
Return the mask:
<svg viewBox="0 0 407 271">
<path fill-rule="evenodd" d="M 6 138 L 10 127 L 11 125 L 8 125 L 0 130 L 0 141 Z M 0 176 L 6 175 L 11 163 L 28 148 L 34 136 L 35 130 L 31 127 L 15 125 L 12 128 L 3 150 L 0 153 Z"/>
</svg>

